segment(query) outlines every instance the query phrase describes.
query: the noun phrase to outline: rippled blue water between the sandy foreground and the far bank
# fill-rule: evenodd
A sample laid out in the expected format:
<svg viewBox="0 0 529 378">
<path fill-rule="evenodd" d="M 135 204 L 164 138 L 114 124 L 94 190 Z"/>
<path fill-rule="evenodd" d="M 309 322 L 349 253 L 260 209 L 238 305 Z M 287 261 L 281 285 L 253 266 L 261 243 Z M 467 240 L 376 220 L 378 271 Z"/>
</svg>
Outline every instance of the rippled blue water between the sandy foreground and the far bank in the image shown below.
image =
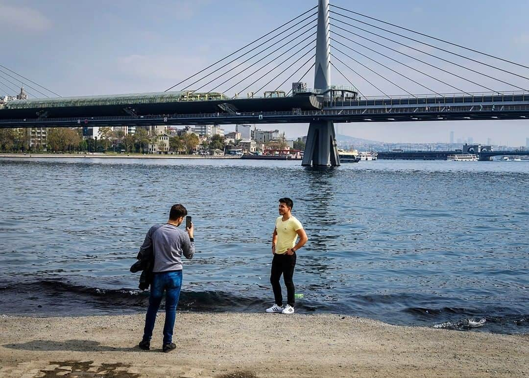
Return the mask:
<svg viewBox="0 0 529 378">
<path fill-rule="evenodd" d="M 528 193 L 524 161 L 0 159 L 0 313 L 145 311 L 129 267 L 174 203 L 198 251 L 179 310 L 261 312 L 289 196 L 309 237 L 297 312 L 527 333 Z"/>
</svg>

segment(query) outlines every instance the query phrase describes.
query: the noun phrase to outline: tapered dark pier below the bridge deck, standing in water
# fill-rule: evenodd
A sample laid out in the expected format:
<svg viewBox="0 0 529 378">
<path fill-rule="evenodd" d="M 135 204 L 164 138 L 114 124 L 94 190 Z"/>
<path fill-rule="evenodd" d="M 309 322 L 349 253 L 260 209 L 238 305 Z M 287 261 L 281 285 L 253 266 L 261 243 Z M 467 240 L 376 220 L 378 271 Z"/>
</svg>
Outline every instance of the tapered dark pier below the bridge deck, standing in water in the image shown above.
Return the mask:
<svg viewBox="0 0 529 378">
<path fill-rule="evenodd" d="M 309 124 L 302 165 L 320 167 L 340 165 L 332 121 L 313 121 Z"/>
</svg>

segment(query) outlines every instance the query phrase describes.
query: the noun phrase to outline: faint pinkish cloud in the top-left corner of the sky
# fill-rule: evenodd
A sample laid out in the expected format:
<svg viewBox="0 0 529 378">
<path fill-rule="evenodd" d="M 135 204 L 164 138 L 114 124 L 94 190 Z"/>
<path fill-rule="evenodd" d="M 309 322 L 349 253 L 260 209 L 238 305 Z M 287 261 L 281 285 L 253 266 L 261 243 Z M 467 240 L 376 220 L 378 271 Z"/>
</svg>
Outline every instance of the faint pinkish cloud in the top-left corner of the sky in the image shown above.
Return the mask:
<svg viewBox="0 0 529 378">
<path fill-rule="evenodd" d="M 0 25 L 14 31 L 39 32 L 50 29 L 52 23 L 32 8 L 0 4 Z"/>
</svg>

